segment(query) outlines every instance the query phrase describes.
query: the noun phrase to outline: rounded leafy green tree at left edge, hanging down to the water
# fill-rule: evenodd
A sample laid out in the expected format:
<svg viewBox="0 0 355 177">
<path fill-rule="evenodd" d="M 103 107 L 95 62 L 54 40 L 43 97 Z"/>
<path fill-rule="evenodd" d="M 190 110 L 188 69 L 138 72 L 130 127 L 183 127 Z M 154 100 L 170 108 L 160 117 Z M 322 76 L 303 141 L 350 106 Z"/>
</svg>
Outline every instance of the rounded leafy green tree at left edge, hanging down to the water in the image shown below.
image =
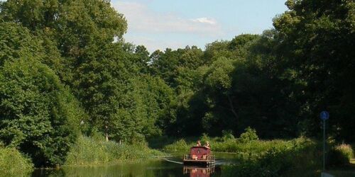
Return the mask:
<svg viewBox="0 0 355 177">
<path fill-rule="evenodd" d="M 35 165 L 55 165 L 75 142 L 80 114 L 70 93 L 31 57 L 0 69 L 0 139 L 29 154 Z"/>
</svg>

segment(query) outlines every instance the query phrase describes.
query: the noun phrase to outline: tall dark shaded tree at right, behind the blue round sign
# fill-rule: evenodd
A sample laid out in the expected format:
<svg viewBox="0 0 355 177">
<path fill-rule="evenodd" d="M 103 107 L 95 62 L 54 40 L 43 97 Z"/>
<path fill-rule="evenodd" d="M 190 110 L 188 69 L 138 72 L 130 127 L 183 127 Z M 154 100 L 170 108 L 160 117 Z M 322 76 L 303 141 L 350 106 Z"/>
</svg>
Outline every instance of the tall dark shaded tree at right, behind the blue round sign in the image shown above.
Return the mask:
<svg viewBox="0 0 355 177">
<path fill-rule="evenodd" d="M 303 88 L 295 90 L 308 132 L 319 131 L 321 110 L 329 110 L 332 134 L 350 141 L 354 125 L 354 1 L 294 1 L 274 19 L 278 59 Z"/>
</svg>

